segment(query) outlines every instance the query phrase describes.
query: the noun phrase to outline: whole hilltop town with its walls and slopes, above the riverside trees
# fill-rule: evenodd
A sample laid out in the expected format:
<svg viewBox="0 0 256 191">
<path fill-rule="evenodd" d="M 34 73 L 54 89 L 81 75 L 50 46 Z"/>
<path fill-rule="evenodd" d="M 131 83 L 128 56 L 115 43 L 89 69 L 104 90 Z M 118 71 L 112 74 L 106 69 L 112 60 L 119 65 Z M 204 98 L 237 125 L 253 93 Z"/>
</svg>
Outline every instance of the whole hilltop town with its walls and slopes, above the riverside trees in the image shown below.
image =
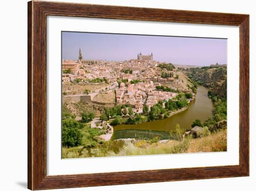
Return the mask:
<svg viewBox="0 0 256 191">
<path fill-rule="evenodd" d="M 153 60 L 153 53 L 137 59 L 107 61 L 83 59 L 81 50 L 77 60 L 62 60 L 63 103 L 87 102 L 88 110 L 102 107 L 129 105 L 134 113 L 142 113 L 162 101 L 163 108 L 169 99 L 179 93 L 190 93 L 188 102 L 195 98 L 193 84 L 174 65 Z M 71 104 L 72 105 L 72 104 Z M 72 110 L 72 106 L 67 104 Z M 99 108 L 96 107 L 96 108 Z M 74 109 L 74 108 L 73 108 Z M 74 114 L 80 111 L 74 109 Z"/>
</svg>

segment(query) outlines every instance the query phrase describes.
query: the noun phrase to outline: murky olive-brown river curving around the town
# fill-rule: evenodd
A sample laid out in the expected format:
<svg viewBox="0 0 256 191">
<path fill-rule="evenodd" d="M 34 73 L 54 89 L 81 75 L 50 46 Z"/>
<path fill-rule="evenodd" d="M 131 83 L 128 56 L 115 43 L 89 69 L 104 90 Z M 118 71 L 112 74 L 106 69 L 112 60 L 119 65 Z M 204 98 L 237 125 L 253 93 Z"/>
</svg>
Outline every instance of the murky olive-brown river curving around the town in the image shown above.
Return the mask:
<svg viewBox="0 0 256 191">
<path fill-rule="evenodd" d="M 189 103 L 189 107 L 185 111 L 177 113 L 167 119 L 137 125 L 116 125 L 114 131 L 124 129 L 170 131 L 175 129 L 176 124 L 179 124 L 182 128 L 190 129 L 195 119 L 201 119 L 201 121 L 204 122 L 212 114 L 214 105 L 211 99 L 208 98 L 207 93 L 208 89 L 206 87 L 198 86 L 195 101 Z"/>
</svg>

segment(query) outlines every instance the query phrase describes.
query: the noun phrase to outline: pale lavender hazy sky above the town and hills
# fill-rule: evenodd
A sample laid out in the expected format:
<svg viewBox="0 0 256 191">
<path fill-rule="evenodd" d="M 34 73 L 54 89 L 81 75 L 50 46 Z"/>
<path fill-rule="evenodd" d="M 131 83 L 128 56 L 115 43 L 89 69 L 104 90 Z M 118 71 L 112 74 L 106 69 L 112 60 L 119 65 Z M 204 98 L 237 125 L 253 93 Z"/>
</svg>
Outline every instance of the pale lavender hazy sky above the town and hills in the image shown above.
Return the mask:
<svg viewBox="0 0 256 191">
<path fill-rule="evenodd" d="M 78 59 L 79 48 L 83 59 L 123 61 L 152 52 L 174 65 L 227 64 L 227 39 L 62 32 L 62 59 Z"/>
</svg>

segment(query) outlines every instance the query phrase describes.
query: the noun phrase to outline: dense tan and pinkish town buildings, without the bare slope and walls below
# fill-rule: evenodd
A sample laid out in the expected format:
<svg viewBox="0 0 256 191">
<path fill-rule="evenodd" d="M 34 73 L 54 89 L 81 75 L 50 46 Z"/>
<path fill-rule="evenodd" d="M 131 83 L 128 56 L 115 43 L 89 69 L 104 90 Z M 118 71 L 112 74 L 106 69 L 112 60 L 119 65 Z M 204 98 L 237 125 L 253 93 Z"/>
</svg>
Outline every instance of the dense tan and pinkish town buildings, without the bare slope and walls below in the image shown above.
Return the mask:
<svg viewBox="0 0 256 191">
<path fill-rule="evenodd" d="M 157 67 L 159 64 L 160 62 L 153 60 L 152 53 L 148 56 L 140 53 L 138 59 L 120 62 L 83 59 L 80 50 L 77 60 L 62 60 L 62 70 L 71 70 L 70 73 L 62 72 L 62 81 L 95 83 L 102 82 L 100 79 L 107 79 L 108 83 L 118 87 L 115 89 L 116 103 L 131 105 L 135 112 L 140 113 L 145 104 L 150 108 L 159 100 L 165 101 L 177 96 L 175 92 L 159 91 L 156 86 L 168 83 L 173 90 L 179 88 L 182 91 L 179 86 L 182 80 L 174 77 L 162 78 L 161 72 L 165 69 Z M 176 70 L 171 72 L 175 76 Z"/>
</svg>

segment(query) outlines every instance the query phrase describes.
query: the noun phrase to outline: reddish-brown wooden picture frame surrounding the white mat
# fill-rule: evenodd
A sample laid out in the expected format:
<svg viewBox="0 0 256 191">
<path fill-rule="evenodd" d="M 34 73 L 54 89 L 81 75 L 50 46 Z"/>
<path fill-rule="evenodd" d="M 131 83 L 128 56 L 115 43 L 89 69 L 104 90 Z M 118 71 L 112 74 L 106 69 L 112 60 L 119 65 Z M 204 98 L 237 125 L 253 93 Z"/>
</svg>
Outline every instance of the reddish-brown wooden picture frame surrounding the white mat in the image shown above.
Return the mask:
<svg viewBox="0 0 256 191">
<path fill-rule="evenodd" d="M 239 165 L 47 176 L 47 15 L 239 26 Z M 28 2 L 27 22 L 29 189 L 42 190 L 249 176 L 249 15 L 30 1 Z"/>
</svg>

